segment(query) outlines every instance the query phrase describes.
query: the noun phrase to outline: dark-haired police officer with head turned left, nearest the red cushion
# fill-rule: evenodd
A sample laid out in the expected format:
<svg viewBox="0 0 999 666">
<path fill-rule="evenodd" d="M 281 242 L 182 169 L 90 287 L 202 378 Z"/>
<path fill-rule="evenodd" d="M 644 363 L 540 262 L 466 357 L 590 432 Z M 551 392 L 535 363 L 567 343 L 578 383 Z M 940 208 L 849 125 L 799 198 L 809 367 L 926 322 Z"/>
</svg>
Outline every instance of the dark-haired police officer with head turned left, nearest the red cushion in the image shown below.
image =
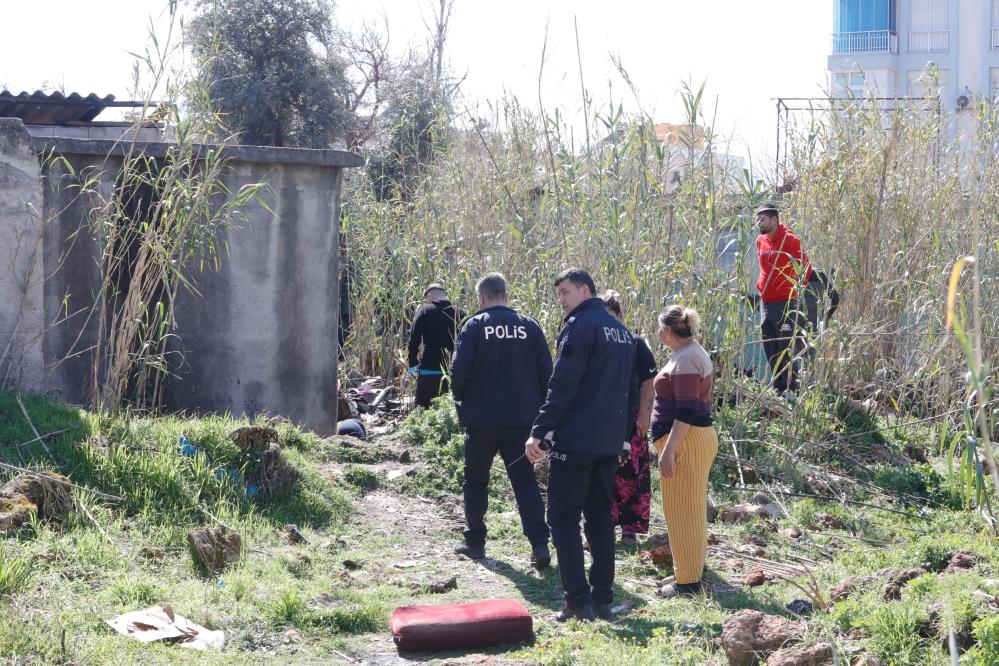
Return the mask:
<svg viewBox="0 0 999 666">
<path fill-rule="evenodd" d="M 565 608 L 557 619 L 610 619 L 614 586 L 611 503 L 617 459 L 638 408 L 635 343 L 596 298 L 590 275 L 569 269 L 555 279 L 566 312 L 548 397 L 524 445 L 532 462 L 555 432 L 548 478 L 548 526 L 558 555 Z M 580 514 L 593 563 L 586 579 Z M 595 609 L 595 613 L 594 613 Z"/>
</svg>

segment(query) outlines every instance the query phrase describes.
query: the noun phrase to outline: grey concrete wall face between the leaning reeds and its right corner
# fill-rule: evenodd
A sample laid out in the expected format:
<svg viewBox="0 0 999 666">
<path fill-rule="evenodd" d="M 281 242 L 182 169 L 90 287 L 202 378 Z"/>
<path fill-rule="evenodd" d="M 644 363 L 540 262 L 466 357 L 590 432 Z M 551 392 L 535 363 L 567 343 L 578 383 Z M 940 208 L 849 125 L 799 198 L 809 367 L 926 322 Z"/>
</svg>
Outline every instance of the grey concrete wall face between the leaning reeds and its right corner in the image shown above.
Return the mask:
<svg viewBox="0 0 999 666">
<path fill-rule="evenodd" d="M 270 412 L 336 430 L 340 170 L 237 162 L 230 191 L 266 182 L 267 208 L 226 232 L 219 273 L 177 306 L 185 363 L 167 385 L 171 409 Z"/>
</svg>

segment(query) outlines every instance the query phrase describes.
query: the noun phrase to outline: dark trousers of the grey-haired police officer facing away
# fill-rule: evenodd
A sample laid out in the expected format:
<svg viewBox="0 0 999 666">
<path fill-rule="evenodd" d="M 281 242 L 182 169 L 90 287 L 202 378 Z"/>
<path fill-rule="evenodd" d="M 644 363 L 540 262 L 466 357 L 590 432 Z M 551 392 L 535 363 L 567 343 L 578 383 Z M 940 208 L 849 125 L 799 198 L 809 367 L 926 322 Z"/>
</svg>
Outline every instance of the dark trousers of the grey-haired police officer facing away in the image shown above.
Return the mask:
<svg viewBox="0 0 999 666">
<path fill-rule="evenodd" d="M 513 495 L 517 498 L 520 524 L 532 546 L 548 543 L 545 504 L 541 499 L 534 468 L 524 456 L 530 426 L 520 428 L 469 428 L 465 432 L 465 543 L 486 543 L 486 508 L 489 504 L 489 473 L 499 452 L 506 465 Z M 519 460 L 518 460 L 519 458 Z M 514 462 L 516 461 L 516 462 Z M 512 464 L 511 464 L 512 463 Z"/>
</svg>

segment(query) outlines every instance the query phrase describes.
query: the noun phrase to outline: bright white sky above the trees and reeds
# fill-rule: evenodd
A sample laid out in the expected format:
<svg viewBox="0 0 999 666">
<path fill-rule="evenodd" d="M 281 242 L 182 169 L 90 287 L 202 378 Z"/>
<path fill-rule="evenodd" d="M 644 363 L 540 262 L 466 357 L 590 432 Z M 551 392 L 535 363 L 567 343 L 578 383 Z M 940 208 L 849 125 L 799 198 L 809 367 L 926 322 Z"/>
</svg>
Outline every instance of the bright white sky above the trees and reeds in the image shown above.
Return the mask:
<svg viewBox="0 0 999 666">
<path fill-rule="evenodd" d="M 132 53 L 163 34 L 166 0 L 4 0 L 0 87 L 43 86 L 129 96 Z M 182 5 L 183 6 L 183 5 Z M 447 55 L 471 110 L 504 94 L 582 118 L 583 82 L 657 122 L 682 122 L 678 90 L 706 82 L 705 102 L 732 153 L 772 159 L 777 97 L 819 96 L 826 85 L 830 0 L 454 0 Z M 342 26 L 387 24 L 390 45 L 422 45 L 431 0 L 338 0 Z M 18 27 L 20 26 L 20 27 Z M 578 31 L 578 53 L 576 34 Z M 161 38 L 162 39 L 162 38 Z M 542 68 L 542 48 L 545 62 Z M 631 93 L 616 56 L 637 90 Z M 608 88 L 608 86 L 610 88 Z"/>
</svg>

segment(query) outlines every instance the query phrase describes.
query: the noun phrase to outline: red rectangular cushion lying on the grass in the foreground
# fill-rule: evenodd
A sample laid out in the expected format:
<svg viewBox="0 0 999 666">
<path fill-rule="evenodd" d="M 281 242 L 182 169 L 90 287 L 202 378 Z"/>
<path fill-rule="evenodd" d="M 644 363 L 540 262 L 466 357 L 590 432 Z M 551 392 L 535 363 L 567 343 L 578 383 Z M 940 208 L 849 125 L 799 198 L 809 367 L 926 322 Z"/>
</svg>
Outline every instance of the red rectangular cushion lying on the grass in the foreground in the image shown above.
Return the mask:
<svg viewBox="0 0 999 666">
<path fill-rule="evenodd" d="M 534 638 L 531 614 L 513 599 L 403 606 L 392 613 L 389 629 L 404 652 L 482 648 Z"/>
</svg>

